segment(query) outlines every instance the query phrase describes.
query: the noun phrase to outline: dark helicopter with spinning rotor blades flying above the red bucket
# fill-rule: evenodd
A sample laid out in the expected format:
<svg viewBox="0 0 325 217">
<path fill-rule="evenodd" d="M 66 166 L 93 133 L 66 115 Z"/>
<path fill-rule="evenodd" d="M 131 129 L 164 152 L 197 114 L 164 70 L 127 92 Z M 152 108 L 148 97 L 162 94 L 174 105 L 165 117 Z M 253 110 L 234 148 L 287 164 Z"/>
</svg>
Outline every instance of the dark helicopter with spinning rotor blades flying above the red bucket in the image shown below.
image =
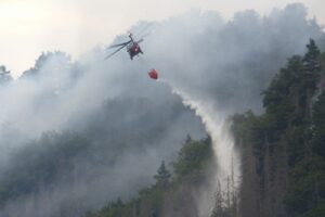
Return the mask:
<svg viewBox="0 0 325 217">
<path fill-rule="evenodd" d="M 143 38 L 147 35 L 144 35 L 140 40 L 136 41 L 136 40 L 134 40 L 132 33 L 129 33 L 128 37 L 130 38 L 130 40 L 122 42 L 122 43 L 113 44 L 107 48 L 107 49 L 113 49 L 113 48 L 118 48 L 118 49 L 116 51 L 114 51 L 113 53 L 110 53 L 109 55 L 107 55 L 105 58 L 105 60 L 109 59 L 115 53 L 117 53 L 118 51 L 120 51 L 121 49 L 123 49 L 126 47 L 127 47 L 127 51 L 128 51 L 131 60 L 133 60 L 133 58 L 135 55 L 139 55 L 139 53 L 143 54 L 139 43 L 141 43 L 144 40 Z"/>
</svg>

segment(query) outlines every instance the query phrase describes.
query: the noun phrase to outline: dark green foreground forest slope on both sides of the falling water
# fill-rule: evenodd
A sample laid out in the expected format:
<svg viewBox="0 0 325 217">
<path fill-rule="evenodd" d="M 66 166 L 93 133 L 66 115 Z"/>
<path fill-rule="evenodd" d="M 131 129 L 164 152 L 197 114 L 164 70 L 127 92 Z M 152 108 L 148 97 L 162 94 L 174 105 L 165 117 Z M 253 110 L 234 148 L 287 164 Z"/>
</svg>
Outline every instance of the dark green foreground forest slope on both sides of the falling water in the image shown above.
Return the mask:
<svg viewBox="0 0 325 217">
<path fill-rule="evenodd" d="M 233 116 L 243 156 L 238 192 L 214 189 L 210 217 L 325 215 L 325 55 L 313 40 L 303 56 L 288 59 L 263 92 L 264 114 Z M 155 184 L 131 201 L 107 204 L 89 217 L 195 217 L 200 189 L 209 184 L 210 140 L 186 140 L 172 174 L 165 162 Z"/>
</svg>

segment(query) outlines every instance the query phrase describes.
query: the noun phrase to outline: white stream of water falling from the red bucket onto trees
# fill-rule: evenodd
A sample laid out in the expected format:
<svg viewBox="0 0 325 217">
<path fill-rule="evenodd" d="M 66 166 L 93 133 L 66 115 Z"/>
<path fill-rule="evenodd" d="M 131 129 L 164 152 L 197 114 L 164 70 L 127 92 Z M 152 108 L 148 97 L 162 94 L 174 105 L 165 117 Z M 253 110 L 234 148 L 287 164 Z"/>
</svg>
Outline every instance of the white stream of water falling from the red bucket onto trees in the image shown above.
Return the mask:
<svg viewBox="0 0 325 217">
<path fill-rule="evenodd" d="M 212 177 L 212 189 L 207 191 L 212 194 L 209 196 L 213 199 L 216 191 L 220 191 L 222 194 L 226 192 L 235 193 L 239 183 L 238 178 L 240 177 L 240 159 L 234 146 L 233 137 L 230 133 L 226 115 L 219 113 L 212 102 L 196 99 L 168 80 L 159 79 L 159 81 L 168 85 L 172 93 L 179 95 L 182 99 L 182 103 L 200 117 L 207 132 L 211 137 L 217 169 Z M 212 199 L 204 200 L 204 203 L 198 202 L 199 216 L 211 215 L 214 206 L 214 200 Z"/>
</svg>

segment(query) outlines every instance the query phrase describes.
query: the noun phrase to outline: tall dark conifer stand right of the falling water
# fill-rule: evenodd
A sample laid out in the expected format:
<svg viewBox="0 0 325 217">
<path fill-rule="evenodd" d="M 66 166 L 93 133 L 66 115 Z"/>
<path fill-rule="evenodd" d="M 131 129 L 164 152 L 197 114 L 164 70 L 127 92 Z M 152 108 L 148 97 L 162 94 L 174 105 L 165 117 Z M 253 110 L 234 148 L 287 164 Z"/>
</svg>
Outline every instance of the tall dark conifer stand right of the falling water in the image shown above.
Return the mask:
<svg viewBox="0 0 325 217">
<path fill-rule="evenodd" d="M 264 114 L 234 116 L 242 216 L 325 215 L 325 56 L 307 47 L 263 92 Z"/>
</svg>

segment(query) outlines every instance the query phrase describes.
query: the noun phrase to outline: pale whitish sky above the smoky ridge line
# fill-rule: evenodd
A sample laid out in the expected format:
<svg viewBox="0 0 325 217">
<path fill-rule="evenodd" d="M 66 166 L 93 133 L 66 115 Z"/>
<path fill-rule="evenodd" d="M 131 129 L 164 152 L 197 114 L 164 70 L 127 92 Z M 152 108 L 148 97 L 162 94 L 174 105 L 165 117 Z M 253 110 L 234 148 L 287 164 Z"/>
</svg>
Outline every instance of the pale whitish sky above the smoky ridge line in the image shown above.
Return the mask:
<svg viewBox="0 0 325 217">
<path fill-rule="evenodd" d="M 268 14 L 302 2 L 325 24 L 324 0 L 0 0 L 0 64 L 16 76 L 34 65 L 41 51 L 62 50 L 74 59 L 107 44 L 139 20 L 161 21 L 192 9 L 216 10 L 226 18 L 245 9 Z"/>
</svg>

